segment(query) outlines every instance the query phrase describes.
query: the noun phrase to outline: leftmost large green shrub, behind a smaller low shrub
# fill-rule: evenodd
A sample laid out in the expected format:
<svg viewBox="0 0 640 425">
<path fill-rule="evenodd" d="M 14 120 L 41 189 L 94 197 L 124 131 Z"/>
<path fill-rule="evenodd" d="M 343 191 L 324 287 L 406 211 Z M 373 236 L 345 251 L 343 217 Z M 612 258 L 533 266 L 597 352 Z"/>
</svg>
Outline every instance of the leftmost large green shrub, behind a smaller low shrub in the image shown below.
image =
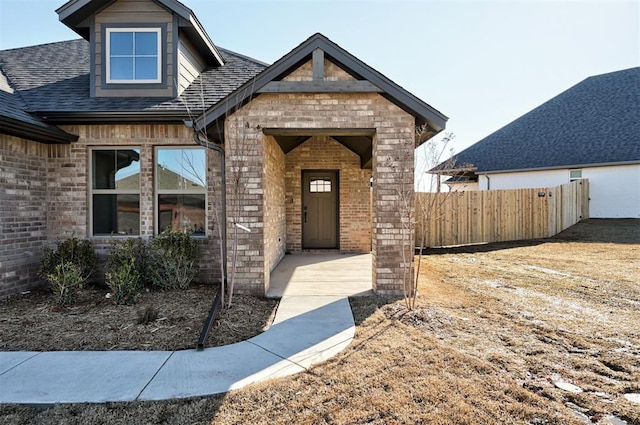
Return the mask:
<svg viewBox="0 0 640 425">
<path fill-rule="evenodd" d="M 48 280 L 48 276 L 55 274 L 59 265 L 71 263 L 76 266 L 85 284 L 93 274 L 96 266 L 96 252 L 93 243 L 76 237 L 65 241 L 58 241 L 56 249 L 45 248 L 44 260 L 40 266 L 40 277 Z"/>
</svg>

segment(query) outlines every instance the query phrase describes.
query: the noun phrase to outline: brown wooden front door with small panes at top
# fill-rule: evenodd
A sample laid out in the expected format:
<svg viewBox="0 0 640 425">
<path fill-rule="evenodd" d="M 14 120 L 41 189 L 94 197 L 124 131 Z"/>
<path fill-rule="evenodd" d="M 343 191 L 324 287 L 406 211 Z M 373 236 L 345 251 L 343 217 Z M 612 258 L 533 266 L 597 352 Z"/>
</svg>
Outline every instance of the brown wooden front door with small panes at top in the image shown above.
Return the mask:
<svg viewBox="0 0 640 425">
<path fill-rule="evenodd" d="M 338 248 L 338 172 L 302 172 L 302 249 Z"/>
</svg>

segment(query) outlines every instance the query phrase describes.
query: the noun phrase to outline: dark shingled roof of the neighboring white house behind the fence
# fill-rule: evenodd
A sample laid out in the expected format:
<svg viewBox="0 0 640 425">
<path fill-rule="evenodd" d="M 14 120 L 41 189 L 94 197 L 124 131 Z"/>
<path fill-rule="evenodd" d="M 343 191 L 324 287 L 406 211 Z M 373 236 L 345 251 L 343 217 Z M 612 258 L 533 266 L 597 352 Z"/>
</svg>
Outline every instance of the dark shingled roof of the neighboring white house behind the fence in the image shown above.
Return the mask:
<svg viewBox="0 0 640 425">
<path fill-rule="evenodd" d="M 640 67 L 589 77 L 454 158 L 477 174 L 639 163 Z"/>
</svg>

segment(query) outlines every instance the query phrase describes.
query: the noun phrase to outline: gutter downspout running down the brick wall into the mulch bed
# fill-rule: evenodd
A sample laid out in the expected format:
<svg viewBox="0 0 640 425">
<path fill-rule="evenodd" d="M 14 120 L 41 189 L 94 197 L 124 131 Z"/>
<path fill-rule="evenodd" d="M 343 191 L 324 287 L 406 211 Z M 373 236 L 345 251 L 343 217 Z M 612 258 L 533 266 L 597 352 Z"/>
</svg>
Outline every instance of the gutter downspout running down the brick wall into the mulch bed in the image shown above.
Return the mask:
<svg viewBox="0 0 640 425">
<path fill-rule="evenodd" d="M 222 287 L 216 294 L 215 299 L 213 300 L 213 304 L 211 305 L 211 309 L 209 310 L 209 315 L 205 320 L 204 327 L 202 328 L 202 332 L 200 332 L 200 338 L 198 338 L 198 345 L 196 347 L 197 351 L 204 350 L 204 343 L 209 336 L 209 331 L 211 330 L 211 325 L 213 324 L 213 320 L 218 314 L 218 310 L 220 309 L 220 305 L 222 304 L 222 291 L 227 288 L 227 176 L 226 176 L 226 161 L 225 161 L 225 151 L 222 146 L 216 145 L 214 143 L 210 143 L 208 141 L 200 140 L 200 136 L 196 131 L 195 125 L 193 121 L 185 121 L 184 125 L 187 128 L 193 129 L 193 140 L 200 146 L 203 146 L 207 149 L 213 149 L 214 151 L 220 154 L 220 168 L 221 168 L 221 179 L 222 179 L 222 211 L 221 211 L 221 223 L 222 227 L 222 267 L 224 276 L 222 277 Z"/>
</svg>

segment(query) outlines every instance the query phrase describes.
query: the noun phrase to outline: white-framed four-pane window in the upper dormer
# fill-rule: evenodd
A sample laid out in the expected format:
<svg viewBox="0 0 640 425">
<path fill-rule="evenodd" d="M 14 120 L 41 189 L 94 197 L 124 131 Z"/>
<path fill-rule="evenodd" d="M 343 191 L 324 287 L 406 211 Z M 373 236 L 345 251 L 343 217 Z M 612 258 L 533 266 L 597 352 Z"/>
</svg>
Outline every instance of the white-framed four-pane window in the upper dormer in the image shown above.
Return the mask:
<svg viewBox="0 0 640 425">
<path fill-rule="evenodd" d="M 161 28 L 107 28 L 106 82 L 162 82 Z"/>
</svg>

